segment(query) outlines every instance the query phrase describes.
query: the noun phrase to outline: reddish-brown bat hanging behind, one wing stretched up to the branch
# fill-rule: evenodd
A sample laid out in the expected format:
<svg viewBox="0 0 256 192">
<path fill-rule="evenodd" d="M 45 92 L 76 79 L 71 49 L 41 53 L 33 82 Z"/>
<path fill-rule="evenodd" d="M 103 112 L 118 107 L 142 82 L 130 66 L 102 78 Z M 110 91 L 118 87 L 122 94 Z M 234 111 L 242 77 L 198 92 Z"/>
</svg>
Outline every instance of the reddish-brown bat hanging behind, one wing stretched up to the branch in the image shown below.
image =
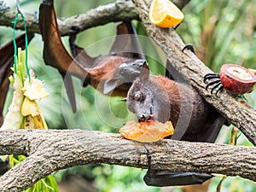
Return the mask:
<svg viewBox="0 0 256 192">
<path fill-rule="evenodd" d="M 44 40 L 44 61 L 61 73 L 73 112 L 76 105 L 71 75 L 81 79 L 84 86 L 91 84 L 103 94 L 126 96 L 144 59 L 131 22 L 123 22 L 117 27 L 117 37 L 109 54 L 97 57 L 90 57 L 84 49 L 73 44 L 75 34 L 70 38 L 73 56 L 68 54 L 61 42 L 52 0 L 40 4 L 39 26 Z M 79 26 L 73 26 L 71 31 L 74 29 L 78 32 Z"/>
</svg>

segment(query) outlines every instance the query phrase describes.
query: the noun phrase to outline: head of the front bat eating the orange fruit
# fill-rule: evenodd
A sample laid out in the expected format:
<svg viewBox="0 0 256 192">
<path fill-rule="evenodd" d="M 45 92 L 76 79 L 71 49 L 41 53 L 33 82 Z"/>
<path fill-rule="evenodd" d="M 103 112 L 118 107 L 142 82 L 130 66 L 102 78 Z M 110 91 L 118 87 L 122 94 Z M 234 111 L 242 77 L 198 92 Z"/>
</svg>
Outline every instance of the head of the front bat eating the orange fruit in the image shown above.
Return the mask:
<svg viewBox="0 0 256 192">
<path fill-rule="evenodd" d="M 139 121 L 154 119 L 164 123 L 170 117 L 169 97 L 158 77 L 149 75 L 145 61 L 139 77 L 128 91 L 127 108 L 137 114 Z"/>
</svg>

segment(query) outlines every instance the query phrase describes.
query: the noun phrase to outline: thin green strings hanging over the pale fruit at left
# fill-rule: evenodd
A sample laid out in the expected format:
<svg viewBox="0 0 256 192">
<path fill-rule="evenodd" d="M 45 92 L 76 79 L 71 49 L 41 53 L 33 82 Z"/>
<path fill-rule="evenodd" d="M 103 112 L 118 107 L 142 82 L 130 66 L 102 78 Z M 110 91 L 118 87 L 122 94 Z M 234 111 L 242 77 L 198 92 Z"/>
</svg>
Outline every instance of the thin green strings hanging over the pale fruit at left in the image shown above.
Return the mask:
<svg viewBox="0 0 256 192">
<path fill-rule="evenodd" d="M 15 16 L 15 20 L 12 21 L 12 23 L 14 24 L 14 48 L 15 48 L 15 55 L 14 55 L 14 66 L 15 66 L 15 73 L 17 73 L 17 44 L 15 41 L 16 38 L 16 34 L 15 34 L 15 28 L 16 28 L 16 24 L 19 20 L 19 15 L 21 16 L 21 19 L 23 20 L 23 24 L 24 24 L 24 30 L 25 30 L 25 65 L 26 65 L 26 73 L 28 75 L 28 79 L 30 81 L 30 74 L 29 74 L 29 67 L 27 65 L 27 32 L 26 32 L 26 19 L 25 16 L 21 13 L 20 11 L 20 0 L 16 0 L 16 7 L 17 7 L 17 15 Z"/>
</svg>

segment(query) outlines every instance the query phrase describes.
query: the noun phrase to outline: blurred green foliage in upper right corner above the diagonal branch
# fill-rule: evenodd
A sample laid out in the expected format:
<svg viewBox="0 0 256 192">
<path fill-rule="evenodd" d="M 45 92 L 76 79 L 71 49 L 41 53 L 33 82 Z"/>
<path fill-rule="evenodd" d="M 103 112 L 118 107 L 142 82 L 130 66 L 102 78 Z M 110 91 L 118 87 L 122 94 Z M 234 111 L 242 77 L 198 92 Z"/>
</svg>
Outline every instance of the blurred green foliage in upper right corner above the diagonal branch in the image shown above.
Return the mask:
<svg viewBox="0 0 256 192">
<path fill-rule="evenodd" d="M 213 71 L 224 63 L 255 67 L 255 6 L 250 0 L 191 0 L 178 27 L 186 43 L 195 45 Z"/>
</svg>

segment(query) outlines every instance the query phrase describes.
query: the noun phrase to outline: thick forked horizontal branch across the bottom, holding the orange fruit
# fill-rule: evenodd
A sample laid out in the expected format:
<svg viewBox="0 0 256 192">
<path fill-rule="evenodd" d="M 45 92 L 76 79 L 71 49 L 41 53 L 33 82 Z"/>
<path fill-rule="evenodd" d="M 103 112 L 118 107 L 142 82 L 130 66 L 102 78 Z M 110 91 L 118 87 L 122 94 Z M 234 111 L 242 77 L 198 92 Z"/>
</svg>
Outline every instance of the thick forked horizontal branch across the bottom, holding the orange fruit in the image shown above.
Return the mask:
<svg viewBox="0 0 256 192">
<path fill-rule="evenodd" d="M 0 177 L 0 191 L 20 191 L 71 166 L 106 163 L 172 172 L 218 172 L 256 181 L 256 148 L 163 140 L 137 143 L 99 131 L 0 131 L 0 154 L 29 157 Z"/>
</svg>

